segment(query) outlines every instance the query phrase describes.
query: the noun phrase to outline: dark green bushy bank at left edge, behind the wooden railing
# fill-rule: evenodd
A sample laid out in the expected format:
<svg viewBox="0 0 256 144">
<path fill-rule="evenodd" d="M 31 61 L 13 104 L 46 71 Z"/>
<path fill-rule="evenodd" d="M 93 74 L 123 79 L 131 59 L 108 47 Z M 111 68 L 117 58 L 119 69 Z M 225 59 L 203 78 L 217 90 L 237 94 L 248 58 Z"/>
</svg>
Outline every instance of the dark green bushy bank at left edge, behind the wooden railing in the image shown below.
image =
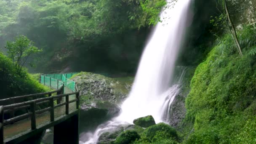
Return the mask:
<svg viewBox="0 0 256 144">
<path fill-rule="evenodd" d="M 18 75 L 11 59 L 3 55 L 3 53 L 0 53 L 0 87 L 1 99 L 11 96 L 42 93 L 49 90 L 41 85 L 37 79 L 29 75 L 24 69 L 22 69 L 20 75 Z"/>
</svg>

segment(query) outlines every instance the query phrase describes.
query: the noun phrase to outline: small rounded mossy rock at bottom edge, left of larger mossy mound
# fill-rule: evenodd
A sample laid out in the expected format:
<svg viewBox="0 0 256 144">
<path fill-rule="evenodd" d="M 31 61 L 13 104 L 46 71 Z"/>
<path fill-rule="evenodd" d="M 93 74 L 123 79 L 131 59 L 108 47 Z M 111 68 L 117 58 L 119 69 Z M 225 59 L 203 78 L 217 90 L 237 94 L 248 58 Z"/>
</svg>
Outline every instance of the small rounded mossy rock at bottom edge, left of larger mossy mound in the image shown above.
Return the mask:
<svg viewBox="0 0 256 144">
<path fill-rule="evenodd" d="M 130 144 L 132 141 L 140 139 L 139 134 L 136 131 L 124 131 L 117 137 L 114 144 Z"/>
</svg>

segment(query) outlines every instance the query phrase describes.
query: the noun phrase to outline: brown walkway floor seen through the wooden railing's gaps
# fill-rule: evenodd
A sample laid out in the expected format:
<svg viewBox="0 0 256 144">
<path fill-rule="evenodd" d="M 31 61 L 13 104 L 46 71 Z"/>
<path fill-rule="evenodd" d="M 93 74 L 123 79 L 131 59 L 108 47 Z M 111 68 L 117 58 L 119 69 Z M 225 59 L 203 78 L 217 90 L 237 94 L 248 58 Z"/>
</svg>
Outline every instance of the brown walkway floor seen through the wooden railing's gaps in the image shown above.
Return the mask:
<svg viewBox="0 0 256 144">
<path fill-rule="evenodd" d="M 65 87 L 64 88 L 64 93 L 72 93 L 73 91 L 70 90 L 69 88 Z M 75 95 L 71 95 L 69 96 L 69 101 L 73 100 L 76 98 Z M 64 100 L 62 100 L 61 102 L 63 102 Z M 65 110 L 66 107 L 61 106 L 61 107 L 57 107 L 54 109 L 54 119 L 58 120 L 61 117 L 65 116 Z M 76 109 L 76 103 L 70 103 L 69 104 L 69 113 L 75 112 Z M 47 125 L 48 123 L 50 123 L 50 112 L 44 112 L 43 114 L 40 115 L 36 115 L 36 124 L 37 124 L 37 128 L 40 128 L 44 125 Z M 11 125 L 5 125 L 4 126 L 4 141 L 10 141 L 11 139 L 15 139 L 17 137 L 17 135 L 21 135 L 24 133 L 29 133 L 29 131 L 31 131 L 31 120 L 30 118 L 24 119 L 24 120 L 20 120 L 16 123 L 13 123 Z"/>
</svg>

